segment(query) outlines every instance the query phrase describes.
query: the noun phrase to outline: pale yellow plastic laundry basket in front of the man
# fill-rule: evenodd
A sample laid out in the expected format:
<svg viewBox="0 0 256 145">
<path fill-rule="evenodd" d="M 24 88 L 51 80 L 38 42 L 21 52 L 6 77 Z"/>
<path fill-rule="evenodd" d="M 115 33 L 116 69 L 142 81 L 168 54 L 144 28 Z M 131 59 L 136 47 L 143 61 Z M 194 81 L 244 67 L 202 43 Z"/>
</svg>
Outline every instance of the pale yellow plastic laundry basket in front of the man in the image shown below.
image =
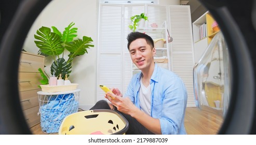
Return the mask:
<svg viewBox="0 0 256 145">
<path fill-rule="evenodd" d="M 59 135 L 121 135 L 128 126 L 128 121 L 117 111 L 86 110 L 68 115 L 60 125 Z"/>
</svg>

